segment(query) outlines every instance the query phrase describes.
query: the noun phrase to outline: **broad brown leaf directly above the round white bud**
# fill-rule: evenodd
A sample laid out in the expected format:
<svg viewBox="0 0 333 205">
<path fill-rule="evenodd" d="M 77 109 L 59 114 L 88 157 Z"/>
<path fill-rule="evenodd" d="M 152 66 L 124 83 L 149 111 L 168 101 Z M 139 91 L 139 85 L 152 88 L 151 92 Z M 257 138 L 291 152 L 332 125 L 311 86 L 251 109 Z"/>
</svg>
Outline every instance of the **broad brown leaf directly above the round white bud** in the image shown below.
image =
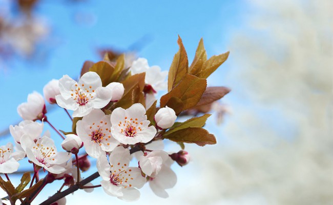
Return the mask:
<svg viewBox="0 0 333 205">
<path fill-rule="evenodd" d="M 206 89 L 206 86 L 206 79 L 201 79 L 194 75 L 186 74 L 178 86 L 161 97 L 161 108 L 168 106 L 174 109 L 178 115 L 181 111 L 197 105 L 201 95 Z M 183 107 L 180 108 L 181 106 Z"/>
</svg>

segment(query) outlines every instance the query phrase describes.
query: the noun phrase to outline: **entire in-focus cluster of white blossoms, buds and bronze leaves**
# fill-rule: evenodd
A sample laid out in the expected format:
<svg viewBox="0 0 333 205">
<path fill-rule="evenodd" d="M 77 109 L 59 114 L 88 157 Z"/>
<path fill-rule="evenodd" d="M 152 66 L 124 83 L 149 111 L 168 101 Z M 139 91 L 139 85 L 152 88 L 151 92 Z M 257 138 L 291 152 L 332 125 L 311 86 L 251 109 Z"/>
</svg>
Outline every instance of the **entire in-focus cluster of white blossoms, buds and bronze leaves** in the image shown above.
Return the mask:
<svg viewBox="0 0 333 205">
<path fill-rule="evenodd" d="M 84 66 L 78 80 L 64 75 L 45 85 L 44 97 L 37 92 L 29 94 L 27 102 L 17 107 L 23 121 L 10 126 L 15 147 L 11 142 L 0 147 L 0 172 L 7 178 L 0 178 L 1 188 L 11 203 L 31 203 L 54 180 L 63 180 L 63 186 L 45 204 L 66 201 L 65 192 L 61 192 L 64 186 L 71 192 L 103 189 L 121 200 L 134 201 L 140 197 L 139 189 L 149 183 L 157 196 L 169 197 L 165 190 L 177 181 L 173 162 L 185 166 L 190 161 L 184 143 L 216 143 L 214 135 L 202 128 L 210 114 L 201 112 L 203 115 L 191 118 L 186 113 L 196 110 L 197 115 L 202 106 L 211 105 L 229 92 L 224 87 L 206 87 L 205 79 L 228 53 L 213 56 L 219 65 L 212 67 L 201 40 L 189 67 L 180 38 L 178 44 L 169 76 L 158 66 L 150 67 L 147 59 L 138 58 L 126 68 L 124 55 L 115 62 L 106 55 L 103 61 Z M 166 90 L 158 106 L 157 92 Z M 71 130 L 60 131 L 51 124 L 44 99 L 66 111 Z M 176 122 L 182 113 L 189 119 Z M 51 136 L 48 130 L 43 133 L 45 124 L 61 137 L 59 145 L 56 142 L 60 138 Z M 181 150 L 164 151 L 164 139 L 177 142 Z M 12 192 L 8 174 L 16 172 L 18 161 L 25 158 L 32 163 L 34 174 L 31 179 L 30 173 L 25 173 L 19 189 Z M 93 160 L 96 167 L 91 166 Z M 82 178 L 89 169 L 96 173 Z M 98 185 L 93 185 L 91 181 L 97 177 Z"/>
</svg>

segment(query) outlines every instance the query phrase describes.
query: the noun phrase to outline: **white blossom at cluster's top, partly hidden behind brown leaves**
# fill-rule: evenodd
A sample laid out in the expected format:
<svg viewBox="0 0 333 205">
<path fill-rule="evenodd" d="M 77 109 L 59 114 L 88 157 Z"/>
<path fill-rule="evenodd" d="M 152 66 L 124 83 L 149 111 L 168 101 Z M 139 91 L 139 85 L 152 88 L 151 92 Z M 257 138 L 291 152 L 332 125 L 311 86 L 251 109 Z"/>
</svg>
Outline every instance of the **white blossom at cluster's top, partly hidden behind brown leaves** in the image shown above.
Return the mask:
<svg viewBox="0 0 333 205">
<path fill-rule="evenodd" d="M 138 58 L 134 60 L 131 66 L 132 74 L 145 72 L 145 83 L 152 86 L 152 91 L 166 90 L 167 84 L 165 77 L 168 76 L 168 71 L 161 71 L 159 66 L 149 67 L 148 60 Z"/>
</svg>

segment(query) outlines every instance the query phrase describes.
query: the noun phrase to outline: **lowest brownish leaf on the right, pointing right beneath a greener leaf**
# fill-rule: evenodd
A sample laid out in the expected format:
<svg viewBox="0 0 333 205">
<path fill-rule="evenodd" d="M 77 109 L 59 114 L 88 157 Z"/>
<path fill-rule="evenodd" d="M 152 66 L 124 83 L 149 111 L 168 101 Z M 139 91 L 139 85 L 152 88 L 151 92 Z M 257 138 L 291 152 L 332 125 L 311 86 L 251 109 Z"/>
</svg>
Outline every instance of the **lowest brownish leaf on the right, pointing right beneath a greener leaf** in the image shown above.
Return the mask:
<svg viewBox="0 0 333 205">
<path fill-rule="evenodd" d="M 214 145 L 216 139 L 213 134 L 210 134 L 203 128 L 185 128 L 164 136 L 176 142 L 195 143 L 199 146 Z"/>
</svg>

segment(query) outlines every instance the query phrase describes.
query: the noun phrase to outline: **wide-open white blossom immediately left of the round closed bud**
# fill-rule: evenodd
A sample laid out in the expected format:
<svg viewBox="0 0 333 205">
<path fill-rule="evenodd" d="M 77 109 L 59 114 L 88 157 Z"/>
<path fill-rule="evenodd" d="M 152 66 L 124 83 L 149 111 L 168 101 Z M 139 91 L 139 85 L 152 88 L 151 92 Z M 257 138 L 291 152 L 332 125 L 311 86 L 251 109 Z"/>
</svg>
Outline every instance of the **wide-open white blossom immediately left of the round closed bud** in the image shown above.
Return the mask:
<svg viewBox="0 0 333 205">
<path fill-rule="evenodd" d="M 112 135 L 124 145 L 149 142 L 156 134 L 156 128 L 149 126 L 145 108 L 136 103 L 128 109 L 116 108 L 111 113 Z"/>
</svg>

